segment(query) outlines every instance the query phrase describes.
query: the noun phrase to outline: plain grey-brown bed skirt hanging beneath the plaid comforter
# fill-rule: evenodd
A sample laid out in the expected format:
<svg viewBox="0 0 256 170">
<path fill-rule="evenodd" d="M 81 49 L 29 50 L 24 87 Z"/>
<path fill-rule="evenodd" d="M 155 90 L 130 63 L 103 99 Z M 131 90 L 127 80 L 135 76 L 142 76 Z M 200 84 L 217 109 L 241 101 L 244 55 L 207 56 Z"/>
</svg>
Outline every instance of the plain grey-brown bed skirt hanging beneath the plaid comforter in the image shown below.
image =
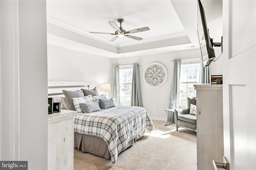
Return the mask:
<svg viewBox="0 0 256 170">
<path fill-rule="evenodd" d="M 145 132 L 146 130 L 142 131 L 142 133 L 140 133 L 135 139 L 129 141 L 126 148 L 136 143 L 136 140 L 140 139 Z M 106 144 L 104 139 L 92 135 L 84 135 L 74 132 L 74 148 L 77 148 L 78 150 L 81 149 L 82 152 L 89 152 L 91 154 L 101 156 L 106 159 L 110 159 L 111 156 L 108 150 L 108 145 Z M 121 150 L 120 152 L 122 151 L 123 150 Z"/>
</svg>

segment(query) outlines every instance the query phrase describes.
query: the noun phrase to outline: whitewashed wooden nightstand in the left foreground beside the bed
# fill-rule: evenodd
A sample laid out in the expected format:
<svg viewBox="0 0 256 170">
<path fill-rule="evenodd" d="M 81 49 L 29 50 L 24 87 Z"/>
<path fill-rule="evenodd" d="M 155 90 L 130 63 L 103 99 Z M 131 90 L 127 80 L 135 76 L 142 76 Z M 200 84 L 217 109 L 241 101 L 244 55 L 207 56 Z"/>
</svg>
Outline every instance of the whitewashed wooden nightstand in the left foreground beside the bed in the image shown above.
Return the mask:
<svg viewBox="0 0 256 170">
<path fill-rule="evenodd" d="M 77 111 L 48 114 L 48 170 L 74 169 L 74 117 Z"/>
</svg>

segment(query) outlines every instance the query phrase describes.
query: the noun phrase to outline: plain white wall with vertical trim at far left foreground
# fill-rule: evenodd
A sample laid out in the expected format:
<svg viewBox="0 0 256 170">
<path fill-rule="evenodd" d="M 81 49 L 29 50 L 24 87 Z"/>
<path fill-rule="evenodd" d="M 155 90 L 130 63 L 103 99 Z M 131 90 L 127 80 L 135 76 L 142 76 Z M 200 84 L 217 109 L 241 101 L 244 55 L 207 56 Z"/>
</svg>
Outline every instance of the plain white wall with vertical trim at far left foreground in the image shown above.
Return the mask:
<svg viewBox="0 0 256 170">
<path fill-rule="evenodd" d="M 0 4 L 0 160 L 46 170 L 46 1 Z"/>
</svg>

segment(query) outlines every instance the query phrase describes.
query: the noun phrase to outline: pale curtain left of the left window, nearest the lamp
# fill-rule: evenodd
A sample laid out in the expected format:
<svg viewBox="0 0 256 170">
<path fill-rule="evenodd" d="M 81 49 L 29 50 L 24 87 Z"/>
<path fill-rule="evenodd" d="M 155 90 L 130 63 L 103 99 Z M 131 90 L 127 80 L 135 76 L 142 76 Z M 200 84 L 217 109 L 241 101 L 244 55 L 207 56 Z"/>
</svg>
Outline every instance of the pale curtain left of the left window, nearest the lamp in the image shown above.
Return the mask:
<svg viewBox="0 0 256 170">
<path fill-rule="evenodd" d="M 113 66 L 113 92 L 112 96 L 115 100 L 115 104 L 120 106 L 120 95 L 119 95 L 119 67 L 117 65 Z"/>
</svg>

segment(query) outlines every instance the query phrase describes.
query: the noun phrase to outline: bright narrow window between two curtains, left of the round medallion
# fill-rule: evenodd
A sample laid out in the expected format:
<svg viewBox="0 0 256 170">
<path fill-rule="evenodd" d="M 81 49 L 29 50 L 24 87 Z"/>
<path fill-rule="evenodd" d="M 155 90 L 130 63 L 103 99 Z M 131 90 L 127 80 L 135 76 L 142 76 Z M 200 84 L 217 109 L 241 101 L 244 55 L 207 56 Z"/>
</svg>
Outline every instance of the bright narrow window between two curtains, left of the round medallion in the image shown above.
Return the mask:
<svg viewBox="0 0 256 170">
<path fill-rule="evenodd" d="M 129 105 L 131 101 L 132 88 L 132 65 L 120 66 L 119 68 L 119 85 L 121 105 Z"/>
</svg>

